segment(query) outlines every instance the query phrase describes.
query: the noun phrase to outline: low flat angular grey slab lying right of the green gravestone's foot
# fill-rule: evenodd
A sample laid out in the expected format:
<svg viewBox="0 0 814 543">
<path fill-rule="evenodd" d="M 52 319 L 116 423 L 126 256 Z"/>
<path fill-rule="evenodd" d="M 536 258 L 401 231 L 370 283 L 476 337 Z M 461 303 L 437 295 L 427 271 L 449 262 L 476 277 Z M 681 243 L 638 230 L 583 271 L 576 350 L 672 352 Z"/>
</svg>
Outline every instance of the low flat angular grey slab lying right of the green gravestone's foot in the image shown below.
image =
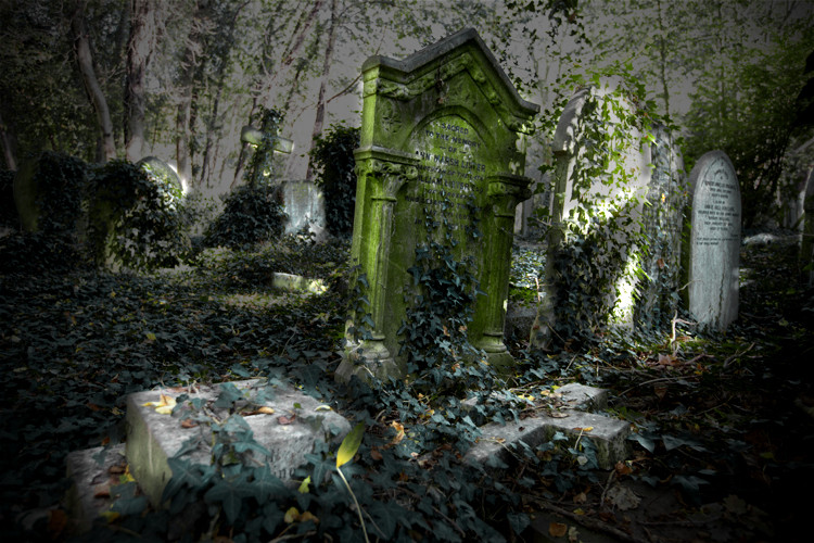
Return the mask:
<svg viewBox="0 0 814 543">
<path fill-rule="evenodd" d="M 538 414 L 523 420 L 501 426 L 489 422 L 481 426 L 481 438 L 466 455 L 468 462 L 488 465 L 492 457 L 504 463 L 511 459 L 511 450 L 522 441 L 530 447 L 548 441 L 556 432 L 570 438 L 588 439 L 596 446 L 597 464 L 611 469 L 627 457 L 627 435 L 631 425 L 588 409 L 605 408 L 608 391 L 584 384 L 571 383 L 560 388 L 558 404 L 550 414 Z"/>
</svg>

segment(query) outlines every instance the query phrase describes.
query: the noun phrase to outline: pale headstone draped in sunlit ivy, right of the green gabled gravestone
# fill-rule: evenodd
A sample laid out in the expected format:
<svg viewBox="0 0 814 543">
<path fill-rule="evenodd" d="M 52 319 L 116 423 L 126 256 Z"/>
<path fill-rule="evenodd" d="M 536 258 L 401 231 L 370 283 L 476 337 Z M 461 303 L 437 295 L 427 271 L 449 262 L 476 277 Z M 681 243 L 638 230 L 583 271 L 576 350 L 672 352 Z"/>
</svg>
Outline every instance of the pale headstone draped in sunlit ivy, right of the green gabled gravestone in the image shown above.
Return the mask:
<svg viewBox="0 0 814 543">
<path fill-rule="evenodd" d="M 531 343 L 650 326 L 675 304 L 683 163 L 615 79 L 580 89 L 554 134 L 544 296 Z M 672 315 L 671 315 L 672 316 Z"/>
</svg>

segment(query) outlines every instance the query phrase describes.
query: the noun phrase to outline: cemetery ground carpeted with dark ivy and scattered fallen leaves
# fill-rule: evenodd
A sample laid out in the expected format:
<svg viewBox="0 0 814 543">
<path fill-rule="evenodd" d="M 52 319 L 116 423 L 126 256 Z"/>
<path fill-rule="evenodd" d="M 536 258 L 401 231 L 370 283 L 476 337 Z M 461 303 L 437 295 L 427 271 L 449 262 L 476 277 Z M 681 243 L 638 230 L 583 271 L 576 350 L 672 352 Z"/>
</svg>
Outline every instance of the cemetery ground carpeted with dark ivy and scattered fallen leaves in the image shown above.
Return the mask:
<svg viewBox="0 0 814 543">
<path fill-rule="evenodd" d="M 572 381 L 610 388 L 609 414 L 633 425 L 631 455 L 601 471 L 584 460 L 589 451 L 555 440 L 492 475 L 460 464 L 476 438 L 466 414 L 442 417 L 420 395 L 381 404 L 369 389 L 333 383 L 349 296 L 346 242 L 208 251 L 151 276 L 69 266 L 54 260 L 67 250 L 52 243 L 0 245 L 0 526 L 9 541 L 68 538 L 65 455 L 119 442 L 127 393 L 269 375 L 366 422 L 345 475 L 372 540 L 533 541 L 537 518 L 555 541 L 585 541 L 592 530 L 619 541 L 799 540 L 807 510 L 798 496 L 814 482 L 814 296 L 798 282 L 788 232 L 746 238 L 740 318 L 726 334 L 677 321 L 672 337 L 603 337 L 550 355 L 527 353 L 517 338 L 514 393 L 542 399 Z M 540 264 L 530 254 L 516 252 L 517 285 L 531 285 L 523 277 Z M 272 272 L 325 278 L 330 295 L 275 291 Z M 315 455 L 303 479 L 330 471 L 332 454 Z M 258 505 L 245 503 L 244 534 L 217 526 L 195 533 L 361 541 L 339 483 L 280 497 L 281 510 L 295 506 L 300 516 L 267 515 L 274 521 L 262 528 L 251 523 Z M 92 538 L 162 541 L 170 522 L 162 515 L 103 522 Z"/>
</svg>

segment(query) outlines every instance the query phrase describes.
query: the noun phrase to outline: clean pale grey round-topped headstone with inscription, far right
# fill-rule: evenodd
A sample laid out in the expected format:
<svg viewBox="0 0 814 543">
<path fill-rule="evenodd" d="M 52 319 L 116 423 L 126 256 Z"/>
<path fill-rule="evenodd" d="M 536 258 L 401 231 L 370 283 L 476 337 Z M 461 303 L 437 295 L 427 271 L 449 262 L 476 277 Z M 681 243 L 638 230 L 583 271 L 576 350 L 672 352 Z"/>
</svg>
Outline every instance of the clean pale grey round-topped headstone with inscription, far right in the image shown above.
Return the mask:
<svg viewBox="0 0 814 543">
<path fill-rule="evenodd" d="M 722 331 L 738 316 L 740 187 L 723 151 L 698 160 L 689 186 L 685 303 L 700 325 Z"/>
</svg>

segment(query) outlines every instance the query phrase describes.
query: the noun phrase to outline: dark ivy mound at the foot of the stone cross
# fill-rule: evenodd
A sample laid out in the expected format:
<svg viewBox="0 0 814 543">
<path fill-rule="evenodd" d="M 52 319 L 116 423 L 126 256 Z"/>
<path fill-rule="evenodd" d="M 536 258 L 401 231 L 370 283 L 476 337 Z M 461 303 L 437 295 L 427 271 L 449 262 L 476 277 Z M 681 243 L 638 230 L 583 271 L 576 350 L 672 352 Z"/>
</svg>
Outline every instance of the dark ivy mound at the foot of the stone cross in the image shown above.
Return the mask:
<svg viewBox="0 0 814 543">
<path fill-rule="evenodd" d="M 232 249 L 249 248 L 279 238 L 285 226 L 282 190 L 279 185 L 259 180 L 232 190 L 220 215 L 206 230 L 206 244 Z"/>
</svg>

